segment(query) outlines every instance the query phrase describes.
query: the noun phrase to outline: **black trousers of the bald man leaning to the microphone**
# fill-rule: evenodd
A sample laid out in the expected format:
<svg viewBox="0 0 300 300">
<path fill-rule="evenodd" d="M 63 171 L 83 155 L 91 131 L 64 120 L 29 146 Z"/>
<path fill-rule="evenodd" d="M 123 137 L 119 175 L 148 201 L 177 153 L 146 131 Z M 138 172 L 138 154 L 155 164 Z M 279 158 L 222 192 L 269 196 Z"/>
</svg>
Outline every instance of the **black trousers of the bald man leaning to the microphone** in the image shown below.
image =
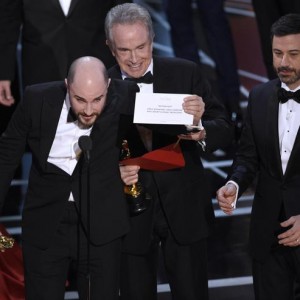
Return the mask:
<svg viewBox="0 0 300 300">
<path fill-rule="evenodd" d="M 91 300 L 117 300 L 121 239 L 102 246 L 90 244 L 78 225 L 74 203 L 69 203 L 55 238 L 47 249 L 23 242 L 26 300 L 63 300 L 68 270 L 75 262 L 79 299 L 87 299 L 90 274 Z"/>
</svg>

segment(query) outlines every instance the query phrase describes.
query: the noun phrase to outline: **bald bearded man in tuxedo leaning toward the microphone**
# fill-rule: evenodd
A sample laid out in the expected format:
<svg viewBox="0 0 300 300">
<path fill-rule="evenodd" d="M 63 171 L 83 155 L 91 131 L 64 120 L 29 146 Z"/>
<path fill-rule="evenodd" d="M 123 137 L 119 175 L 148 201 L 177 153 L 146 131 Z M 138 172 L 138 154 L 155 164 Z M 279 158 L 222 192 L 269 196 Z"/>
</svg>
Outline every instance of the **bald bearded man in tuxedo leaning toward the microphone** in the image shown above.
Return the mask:
<svg viewBox="0 0 300 300">
<path fill-rule="evenodd" d="M 0 208 L 26 143 L 33 156 L 22 219 L 27 300 L 63 299 L 73 261 L 80 299 L 118 299 L 129 225 L 116 141 L 136 89 L 110 81 L 97 58 L 79 58 L 65 83 L 28 87 L 1 136 Z M 92 141 L 89 160 L 81 136 Z"/>
</svg>

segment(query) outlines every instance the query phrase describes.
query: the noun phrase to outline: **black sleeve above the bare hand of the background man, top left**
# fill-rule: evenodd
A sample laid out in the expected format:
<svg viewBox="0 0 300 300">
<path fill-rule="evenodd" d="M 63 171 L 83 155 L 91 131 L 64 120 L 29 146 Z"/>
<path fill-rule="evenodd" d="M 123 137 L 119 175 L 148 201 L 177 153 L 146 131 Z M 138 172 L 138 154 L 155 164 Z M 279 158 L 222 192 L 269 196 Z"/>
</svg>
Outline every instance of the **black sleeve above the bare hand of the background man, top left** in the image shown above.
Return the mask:
<svg viewBox="0 0 300 300">
<path fill-rule="evenodd" d="M 0 1 L 0 80 L 15 78 L 21 18 L 21 0 Z"/>
</svg>

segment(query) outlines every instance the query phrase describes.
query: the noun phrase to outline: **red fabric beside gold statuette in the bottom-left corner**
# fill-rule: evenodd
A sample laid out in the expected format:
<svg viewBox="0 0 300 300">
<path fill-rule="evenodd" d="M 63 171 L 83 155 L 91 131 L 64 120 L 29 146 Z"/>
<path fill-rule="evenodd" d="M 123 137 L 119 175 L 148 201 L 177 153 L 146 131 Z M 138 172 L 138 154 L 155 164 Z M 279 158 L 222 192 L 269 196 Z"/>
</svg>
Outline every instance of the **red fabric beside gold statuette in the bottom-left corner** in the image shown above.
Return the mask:
<svg viewBox="0 0 300 300">
<path fill-rule="evenodd" d="M 0 232 L 9 236 L 1 224 Z M 0 299 L 25 299 L 22 251 L 16 242 L 11 249 L 0 252 Z"/>
</svg>

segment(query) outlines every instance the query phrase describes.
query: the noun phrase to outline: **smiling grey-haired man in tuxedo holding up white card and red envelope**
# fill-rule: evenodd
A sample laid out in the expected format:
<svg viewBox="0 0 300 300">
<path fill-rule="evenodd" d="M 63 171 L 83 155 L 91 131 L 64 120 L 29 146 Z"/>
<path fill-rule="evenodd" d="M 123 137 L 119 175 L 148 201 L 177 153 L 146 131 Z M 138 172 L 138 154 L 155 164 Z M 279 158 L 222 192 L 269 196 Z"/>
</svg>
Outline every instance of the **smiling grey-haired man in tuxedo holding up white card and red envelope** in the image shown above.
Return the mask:
<svg viewBox="0 0 300 300">
<path fill-rule="evenodd" d="M 183 168 L 163 172 L 139 170 L 139 166 L 120 168 L 126 184 L 139 180 L 152 197 L 149 208 L 131 218 L 130 233 L 124 239 L 121 299 L 157 299 L 160 243 L 174 299 L 208 299 L 206 238 L 214 213 L 200 156 L 231 142 L 231 124 L 197 64 L 152 57 L 154 33 L 146 9 L 132 3 L 114 7 L 106 17 L 105 30 L 118 62 L 109 75 L 135 80 L 146 73 L 149 77 L 150 72 L 153 82 L 148 78 L 147 83 L 138 83 L 141 93 L 189 94 L 182 97 L 183 109 L 193 115 L 191 125 L 199 128 L 180 135 L 175 130 L 171 133 L 172 125 L 170 134 L 150 131 L 152 150 L 180 138 Z M 143 132 L 145 127 L 132 126 L 127 135 L 132 156 L 149 150 Z"/>
</svg>

